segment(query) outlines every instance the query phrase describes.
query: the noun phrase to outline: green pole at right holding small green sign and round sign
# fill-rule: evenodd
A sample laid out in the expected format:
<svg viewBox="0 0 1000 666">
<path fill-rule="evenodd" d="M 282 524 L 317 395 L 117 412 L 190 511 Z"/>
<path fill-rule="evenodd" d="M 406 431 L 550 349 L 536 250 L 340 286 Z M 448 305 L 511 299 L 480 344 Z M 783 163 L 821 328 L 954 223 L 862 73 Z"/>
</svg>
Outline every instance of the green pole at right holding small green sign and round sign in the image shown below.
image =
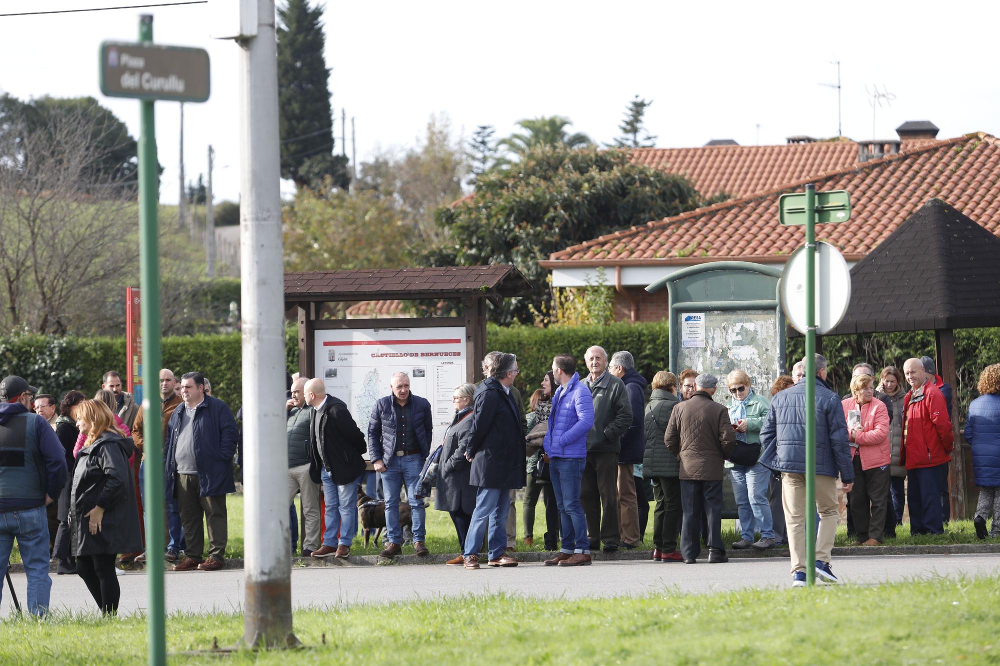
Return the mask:
<svg viewBox="0 0 1000 666">
<path fill-rule="evenodd" d="M 816 186 L 806 185 L 806 581 L 816 584 Z"/>
</svg>

